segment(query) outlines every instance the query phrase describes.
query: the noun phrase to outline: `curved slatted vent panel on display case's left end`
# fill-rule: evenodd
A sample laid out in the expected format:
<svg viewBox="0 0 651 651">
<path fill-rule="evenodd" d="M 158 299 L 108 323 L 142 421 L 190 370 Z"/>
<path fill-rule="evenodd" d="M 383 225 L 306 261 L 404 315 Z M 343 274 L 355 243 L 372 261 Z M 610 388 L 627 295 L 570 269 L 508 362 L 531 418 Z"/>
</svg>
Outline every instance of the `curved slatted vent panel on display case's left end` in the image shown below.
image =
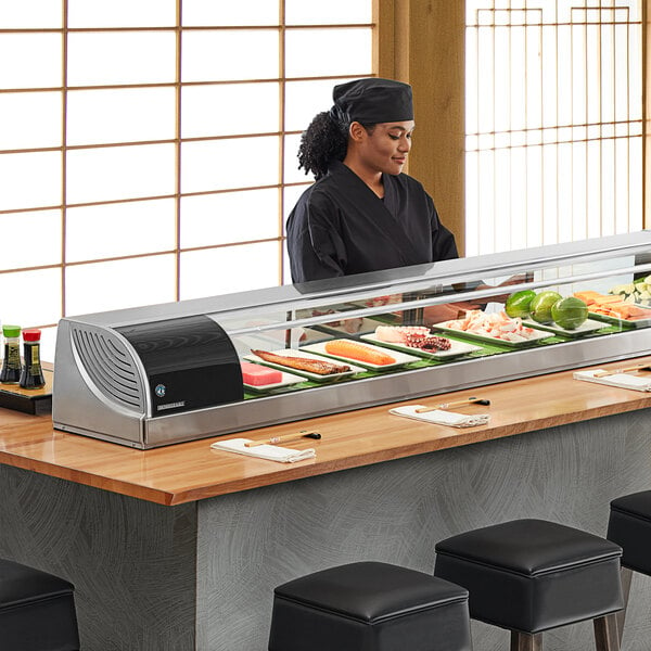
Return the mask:
<svg viewBox="0 0 651 651">
<path fill-rule="evenodd" d="M 72 329 L 72 340 L 76 357 L 95 387 L 127 409 L 143 412 L 142 382 L 124 344 L 105 332 L 81 328 Z"/>
</svg>

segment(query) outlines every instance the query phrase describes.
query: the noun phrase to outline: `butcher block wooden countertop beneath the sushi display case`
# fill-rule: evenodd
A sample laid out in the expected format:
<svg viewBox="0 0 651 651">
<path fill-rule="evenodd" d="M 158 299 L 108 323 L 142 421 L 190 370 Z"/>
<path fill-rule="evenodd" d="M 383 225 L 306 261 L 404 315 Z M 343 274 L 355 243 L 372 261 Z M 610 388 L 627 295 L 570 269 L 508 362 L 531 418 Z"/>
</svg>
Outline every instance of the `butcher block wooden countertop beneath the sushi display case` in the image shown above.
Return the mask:
<svg viewBox="0 0 651 651">
<path fill-rule="evenodd" d="M 639 362 L 651 363 L 651 357 L 586 368 L 615 369 Z M 0 409 L 0 463 L 173 506 L 651 407 L 651 393 L 579 382 L 572 373 L 492 384 L 151 450 L 65 434 L 52 427 L 49 416 Z M 487 425 L 454 429 L 388 412 L 399 405 L 434 406 L 470 396 L 488 399 L 490 406 L 469 405 L 455 411 L 488 412 Z M 284 444 L 316 449 L 316 458 L 296 463 L 210 448 L 215 441 L 242 436 L 267 439 L 302 430 L 319 432 L 322 438 Z"/>
</svg>

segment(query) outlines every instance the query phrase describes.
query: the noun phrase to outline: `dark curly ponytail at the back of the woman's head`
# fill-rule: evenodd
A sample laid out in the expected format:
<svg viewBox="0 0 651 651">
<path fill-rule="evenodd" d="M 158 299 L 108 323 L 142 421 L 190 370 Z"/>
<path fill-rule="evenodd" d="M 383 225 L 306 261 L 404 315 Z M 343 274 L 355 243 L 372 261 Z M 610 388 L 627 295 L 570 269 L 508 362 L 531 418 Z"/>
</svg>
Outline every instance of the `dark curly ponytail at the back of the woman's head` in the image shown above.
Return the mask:
<svg viewBox="0 0 651 651">
<path fill-rule="evenodd" d="M 298 169 L 312 173 L 317 181 L 328 173 L 332 161 L 343 161 L 348 148 L 348 129 L 330 112 L 317 114 L 301 137 Z"/>
</svg>

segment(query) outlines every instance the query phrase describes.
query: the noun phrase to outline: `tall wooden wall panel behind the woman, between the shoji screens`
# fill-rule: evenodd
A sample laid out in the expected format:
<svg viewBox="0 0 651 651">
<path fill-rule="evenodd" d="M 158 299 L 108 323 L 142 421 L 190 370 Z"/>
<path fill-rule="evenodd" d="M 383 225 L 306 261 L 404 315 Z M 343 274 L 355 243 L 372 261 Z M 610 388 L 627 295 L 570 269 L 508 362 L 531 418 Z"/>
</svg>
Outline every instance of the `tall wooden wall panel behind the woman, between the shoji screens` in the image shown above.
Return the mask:
<svg viewBox="0 0 651 651">
<path fill-rule="evenodd" d="M 408 174 L 434 199 L 442 221 L 464 250 L 464 42 L 465 2 L 376 0 L 375 59 L 380 76 L 413 87 L 417 129 Z"/>
</svg>

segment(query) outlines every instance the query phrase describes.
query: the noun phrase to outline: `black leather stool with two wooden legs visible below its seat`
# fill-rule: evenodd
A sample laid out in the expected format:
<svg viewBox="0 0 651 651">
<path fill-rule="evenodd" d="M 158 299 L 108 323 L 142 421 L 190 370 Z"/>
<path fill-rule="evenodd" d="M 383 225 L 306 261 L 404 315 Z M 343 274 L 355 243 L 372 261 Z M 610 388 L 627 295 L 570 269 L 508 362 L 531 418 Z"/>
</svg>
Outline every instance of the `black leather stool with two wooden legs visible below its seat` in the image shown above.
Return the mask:
<svg viewBox="0 0 651 651">
<path fill-rule="evenodd" d="M 593 620 L 599 651 L 617 651 L 622 549 L 545 520 L 514 520 L 436 545 L 434 574 L 470 592 L 470 616 L 511 630 L 513 651 L 542 648 L 542 631 Z"/>
</svg>

